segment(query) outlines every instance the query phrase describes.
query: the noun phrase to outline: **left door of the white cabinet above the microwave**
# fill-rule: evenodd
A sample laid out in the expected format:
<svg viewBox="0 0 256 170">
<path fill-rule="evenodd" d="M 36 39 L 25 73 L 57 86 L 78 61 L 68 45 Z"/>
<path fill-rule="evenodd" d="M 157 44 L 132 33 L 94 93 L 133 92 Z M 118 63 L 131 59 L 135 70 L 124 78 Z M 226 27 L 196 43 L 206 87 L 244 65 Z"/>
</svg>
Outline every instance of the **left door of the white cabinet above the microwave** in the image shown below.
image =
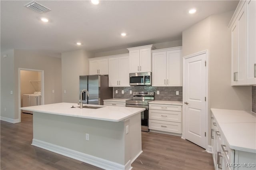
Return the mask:
<svg viewBox="0 0 256 170">
<path fill-rule="evenodd" d="M 129 51 L 129 72 L 140 72 L 140 50 L 134 49 Z"/>
</svg>

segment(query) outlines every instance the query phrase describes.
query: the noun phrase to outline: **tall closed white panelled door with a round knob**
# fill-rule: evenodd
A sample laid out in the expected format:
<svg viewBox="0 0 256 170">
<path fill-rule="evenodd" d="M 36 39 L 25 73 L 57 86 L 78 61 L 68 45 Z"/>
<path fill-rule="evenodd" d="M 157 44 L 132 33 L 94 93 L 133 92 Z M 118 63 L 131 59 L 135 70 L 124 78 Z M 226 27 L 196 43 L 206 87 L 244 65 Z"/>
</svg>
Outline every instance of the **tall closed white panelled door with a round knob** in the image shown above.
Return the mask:
<svg viewBox="0 0 256 170">
<path fill-rule="evenodd" d="M 206 53 L 185 59 L 185 138 L 206 148 Z"/>
</svg>

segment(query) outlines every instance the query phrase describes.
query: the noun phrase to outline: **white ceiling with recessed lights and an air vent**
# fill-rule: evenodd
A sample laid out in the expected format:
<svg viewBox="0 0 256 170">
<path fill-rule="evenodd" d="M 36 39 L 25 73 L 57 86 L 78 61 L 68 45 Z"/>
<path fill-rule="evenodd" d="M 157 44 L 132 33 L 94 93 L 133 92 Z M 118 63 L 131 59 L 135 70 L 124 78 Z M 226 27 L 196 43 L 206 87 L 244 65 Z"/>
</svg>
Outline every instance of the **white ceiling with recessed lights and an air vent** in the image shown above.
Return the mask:
<svg viewBox="0 0 256 170">
<path fill-rule="evenodd" d="M 182 31 L 212 15 L 235 10 L 238 1 L 36 1 L 51 9 L 39 14 L 30 1 L 0 1 L 1 50 L 32 49 L 61 53 L 100 52 L 182 39 Z M 188 10 L 196 8 L 190 15 Z M 40 21 L 49 18 L 48 23 Z M 121 37 L 126 32 L 126 37 Z M 82 42 L 81 46 L 76 42 Z"/>
</svg>

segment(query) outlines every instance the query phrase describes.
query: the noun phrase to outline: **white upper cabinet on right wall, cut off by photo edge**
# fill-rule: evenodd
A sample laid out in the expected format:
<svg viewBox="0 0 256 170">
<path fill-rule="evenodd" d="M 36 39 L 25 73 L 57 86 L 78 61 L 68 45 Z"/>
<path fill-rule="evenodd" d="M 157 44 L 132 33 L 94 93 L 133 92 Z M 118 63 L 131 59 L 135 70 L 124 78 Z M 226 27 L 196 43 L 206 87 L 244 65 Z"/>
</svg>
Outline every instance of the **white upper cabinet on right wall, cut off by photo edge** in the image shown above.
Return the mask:
<svg viewBox="0 0 256 170">
<path fill-rule="evenodd" d="M 231 85 L 256 84 L 256 1 L 240 1 L 230 21 Z"/>
</svg>

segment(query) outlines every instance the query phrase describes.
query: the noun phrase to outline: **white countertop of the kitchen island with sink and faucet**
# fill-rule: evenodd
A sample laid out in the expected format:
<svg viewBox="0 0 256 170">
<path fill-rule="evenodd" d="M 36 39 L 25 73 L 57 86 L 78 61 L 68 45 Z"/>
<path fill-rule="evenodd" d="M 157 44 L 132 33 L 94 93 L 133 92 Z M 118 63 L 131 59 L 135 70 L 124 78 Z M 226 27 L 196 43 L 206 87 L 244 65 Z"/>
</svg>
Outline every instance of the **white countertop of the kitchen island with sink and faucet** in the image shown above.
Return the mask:
<svg viewBox="0 0 256 170">
<path fill-rule="evenodd" d="M 76 108 L 71 108 L 72 106 Z M 77 103 L 55 103 L 49 105 L 39 105 L 30 107 L 21 107 L 20 109 L 54 115 L 64 115 L 70 117 L 81 117 L 87 119 L 97 119 L 102 121 L 119 122 L 144 111 L 143 108 L 102 106 L 102 105 L 84 105 L 102 107 L 99 109 L 80 109 Z"/>
</svg>

